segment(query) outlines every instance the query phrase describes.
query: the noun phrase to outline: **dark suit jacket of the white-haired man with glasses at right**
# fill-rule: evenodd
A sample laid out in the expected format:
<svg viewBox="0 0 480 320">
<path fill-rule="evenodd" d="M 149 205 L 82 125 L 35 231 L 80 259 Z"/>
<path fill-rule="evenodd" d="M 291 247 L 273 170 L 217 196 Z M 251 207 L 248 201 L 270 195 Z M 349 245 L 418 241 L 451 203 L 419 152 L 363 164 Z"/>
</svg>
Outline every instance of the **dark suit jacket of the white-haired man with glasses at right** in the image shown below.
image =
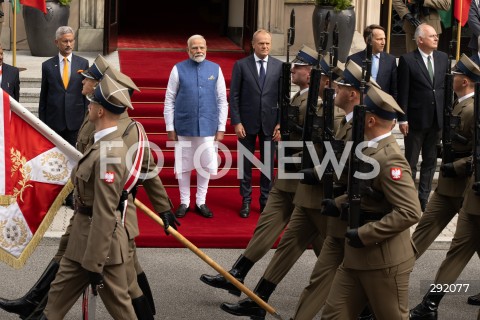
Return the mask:
<svg viewBox="0 0 480 320">
<path fill-rule="evenodd" d="M 418 49 L 400 57 L 398 63 L 398 104 L 405 115 L 399 121 L 408 120 L 409 127 L 417 130 L 431 128 L 435 121 L 443 126 L 445 75 L 448 56 L 433 52 L 434 83 L 430 81 L 427 67 Z"/>
</svg>

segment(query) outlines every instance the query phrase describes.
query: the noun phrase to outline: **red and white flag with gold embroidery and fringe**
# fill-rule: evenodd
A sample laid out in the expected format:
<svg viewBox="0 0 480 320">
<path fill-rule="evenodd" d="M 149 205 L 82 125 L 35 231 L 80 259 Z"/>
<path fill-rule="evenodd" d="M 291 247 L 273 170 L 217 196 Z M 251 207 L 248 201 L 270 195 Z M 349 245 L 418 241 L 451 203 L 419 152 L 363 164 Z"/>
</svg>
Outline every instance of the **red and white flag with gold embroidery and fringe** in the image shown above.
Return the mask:
<svg viewBox="0 0 480 320">
<path fill-rule="evenodd" d="M 0 93 L 0 261 L 21 268 L 73 189 L 81 154 Z"/>
</svg>

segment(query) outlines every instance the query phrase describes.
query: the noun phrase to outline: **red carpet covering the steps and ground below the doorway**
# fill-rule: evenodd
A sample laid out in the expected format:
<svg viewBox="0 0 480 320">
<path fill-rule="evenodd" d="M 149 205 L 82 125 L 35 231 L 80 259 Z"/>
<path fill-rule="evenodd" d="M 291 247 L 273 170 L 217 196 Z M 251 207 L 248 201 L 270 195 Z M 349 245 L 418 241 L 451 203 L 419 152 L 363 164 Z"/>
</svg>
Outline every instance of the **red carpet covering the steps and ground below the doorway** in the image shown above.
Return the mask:
<svg viewBox="0 0 480 320">
<path fill-rule="evenodd" d="M 182 37 L 178 37 L 183 39 Z M 184 44 L 182 44 L 184 47 Z M 209 49 L 211 43 L 208 43 Z M 230 77 L 233 64 L 245 55 L 234 52 L 208 52 L 207 59 L 218 63 L 223 71 L 227 88 L 230 86 Z M 165 122 L 163 119 L 163 101 L 170 71 L 175 63 L 186 59 L 186 52 L 172 51 L 119 51 L 121 71 L 128 74 L 140 87 L 141 92 L 133 95 L 132 101 L 135 110 L 130 115 L 141 122 L 148 134 L 149 140 L 161 149 L 160 163 L 163 162 L 160 177 L 166 186 L 169 197 L 175 208 L 180 203 L 177 180 L 173 174 L 173 149 L 166 147 Z M 196 188 L 191 190 L 191 210 L 182 223 L 179 231 L 192 243 L 201 248 L 245 248 L 250 240 L 259 217 L 259 178 L 260 171 L 253 172 L 253 201 L 252 212 L 248 219 L 238 216 L 242 198 L 239 193 L 237 179 L 237 138 L 227 122 L 227 132 L 222 141 L 228 148 L 227 153 L 220 153 L 222 166 L 225 158 L 231 156 L 232 165 L 221 178 L 214 177 L 210 181 L 207 195 L 207 205 L 213 211 L 214 217 L 206 219 L 193 211 L 195 206 Z M 259 158 L 258 153 L 256 154 Z M 192 186 L 196 185 L 195 174 L 192 174 Z M 140 188 L 138 198 L 151 208 L 150 201 L 144 190 Z M 140 236 L 137 245 L 143 247 L 182 247 L 173 237 L 167 237 L 160 226 L 145 214 L 138 212 Z"/>
</svg>

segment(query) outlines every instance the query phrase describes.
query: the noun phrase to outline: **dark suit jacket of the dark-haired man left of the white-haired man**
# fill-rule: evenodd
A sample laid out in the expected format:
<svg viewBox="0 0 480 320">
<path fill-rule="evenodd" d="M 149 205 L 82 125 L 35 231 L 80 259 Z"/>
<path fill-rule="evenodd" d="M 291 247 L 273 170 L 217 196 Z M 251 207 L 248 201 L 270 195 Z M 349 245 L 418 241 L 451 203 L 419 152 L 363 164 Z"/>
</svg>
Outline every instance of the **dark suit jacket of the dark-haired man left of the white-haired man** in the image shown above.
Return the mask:
<svg viewBox="0 0 480 320">
<path fill-rule="evenodd" d="M 350 59 L 359 66 L 362 66 L 363 59 L 365 59 L 365 50 L 348 56 L 347 61 Z M 378 74 L 375 81 L 383 91 L 397 100 L 397 60 L 393 55 L 380 52 Z"/>
</svg>

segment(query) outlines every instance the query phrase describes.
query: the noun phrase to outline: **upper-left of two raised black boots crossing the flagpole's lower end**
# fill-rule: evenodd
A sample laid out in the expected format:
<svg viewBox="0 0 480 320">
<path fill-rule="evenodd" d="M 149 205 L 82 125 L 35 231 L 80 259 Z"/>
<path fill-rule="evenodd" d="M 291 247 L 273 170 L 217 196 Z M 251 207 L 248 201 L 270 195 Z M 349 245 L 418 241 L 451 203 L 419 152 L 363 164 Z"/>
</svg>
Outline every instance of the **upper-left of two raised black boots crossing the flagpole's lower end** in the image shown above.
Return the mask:
<svg viewBox="0 0 480 320">
<path fill-rule="evenodd" d="M 244 255 L 240 255 L 237 261 L 232 267 L 232 270 L 228 271 L 232 276 L 234 276 L 238 281 L 243 283 L 245 277 L 247 276 L 250 269 L 253 267 L 254 263 L 247 259 Z M 200 280 L 203 283 L 208 284 L 211 287 L 227 290 L 228 293 L 240 296 L 241 291 L 233 284 L 228 282 L 222 275 L 217 274 L 216 276 L 210 276 L 208 274 L 202 274 Z"/>
</svg>

